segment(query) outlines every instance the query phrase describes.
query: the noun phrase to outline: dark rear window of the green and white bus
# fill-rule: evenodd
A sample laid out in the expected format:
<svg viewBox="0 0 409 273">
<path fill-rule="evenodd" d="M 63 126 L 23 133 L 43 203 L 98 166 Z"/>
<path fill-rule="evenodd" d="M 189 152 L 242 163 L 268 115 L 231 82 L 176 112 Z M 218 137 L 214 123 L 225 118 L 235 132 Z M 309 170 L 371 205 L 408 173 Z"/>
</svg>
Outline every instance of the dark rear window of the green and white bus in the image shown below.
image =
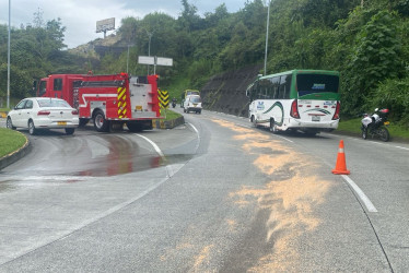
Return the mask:
<svg viewBox="0 0 409 273">
<path fill-rule="evenodd" d="M 297 74 L 299 96 L 316 93 L 338 93 L 339 76 L 325 74 Z"/>
</svg>

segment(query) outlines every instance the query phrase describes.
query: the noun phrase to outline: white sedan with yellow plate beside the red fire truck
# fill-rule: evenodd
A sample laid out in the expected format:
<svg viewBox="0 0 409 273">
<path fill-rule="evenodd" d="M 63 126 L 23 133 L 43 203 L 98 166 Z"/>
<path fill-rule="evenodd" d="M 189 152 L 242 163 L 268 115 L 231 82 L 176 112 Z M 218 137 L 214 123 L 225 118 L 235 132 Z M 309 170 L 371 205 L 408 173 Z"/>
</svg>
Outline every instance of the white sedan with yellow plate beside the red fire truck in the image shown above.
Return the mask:
<svg viewBox="0 0 409 273">
<path fill-rule="evenodd" d="M 51 97 L 28 97 L 21 100 L 7 117 L 7 128 L 27 128 L 30 134 L 42 129 L 65 129 L 73 134 L 79 115 L 66 100 Z"/>
</svg>

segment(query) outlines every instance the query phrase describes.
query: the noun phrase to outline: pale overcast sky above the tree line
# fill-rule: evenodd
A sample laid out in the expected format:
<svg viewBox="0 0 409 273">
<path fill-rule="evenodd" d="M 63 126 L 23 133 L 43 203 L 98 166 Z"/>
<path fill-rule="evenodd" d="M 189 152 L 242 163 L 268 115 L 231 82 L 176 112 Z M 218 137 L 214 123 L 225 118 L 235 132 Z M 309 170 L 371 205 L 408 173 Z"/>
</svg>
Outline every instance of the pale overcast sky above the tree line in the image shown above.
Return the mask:
<svg viewBox="0 0 409 273">
<path fill-rule="evenodd" d="M 96 21 L 115 17 L 115 27 L 126 16 L 143 19 L 155 11 L 177 17 L 182 12 L 180 0 L 10 0 L 11 25 L 20 27 L 33 23 L 34 13 L 43 12 L 45 22 L 61 19 L 67 27 L 65 44 L 74 48 L 95 38 L 103 38 L 103 33 L 95 33 Z M 229 12 L 244 8 L 246 0 L 188 0 L 196 5 L 199 14 L 214 12 L 220 4 L 225 3 Z M 0 1 L 0 24 L 9 24 L 9 1 Z M 107 35 L 113 32 L 107 32 Z"/>
</svg>

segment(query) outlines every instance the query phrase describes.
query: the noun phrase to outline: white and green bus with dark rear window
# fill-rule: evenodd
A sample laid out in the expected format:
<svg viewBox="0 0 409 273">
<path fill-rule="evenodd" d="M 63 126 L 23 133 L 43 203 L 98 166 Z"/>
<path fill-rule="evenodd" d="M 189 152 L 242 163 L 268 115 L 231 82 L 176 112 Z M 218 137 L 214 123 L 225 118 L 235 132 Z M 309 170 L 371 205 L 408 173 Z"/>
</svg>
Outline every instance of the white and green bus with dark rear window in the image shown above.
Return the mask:
<svg viewBox="0 0 409 273">
<path fill-rule="evenodd" d="M 340 115 L 339 72 L 291 70 L 259 76 L 246 95 L 248 118 L 255 127 L 271 132 L 303 131 L 315 135 L 338 128 Z"/>
</svg>

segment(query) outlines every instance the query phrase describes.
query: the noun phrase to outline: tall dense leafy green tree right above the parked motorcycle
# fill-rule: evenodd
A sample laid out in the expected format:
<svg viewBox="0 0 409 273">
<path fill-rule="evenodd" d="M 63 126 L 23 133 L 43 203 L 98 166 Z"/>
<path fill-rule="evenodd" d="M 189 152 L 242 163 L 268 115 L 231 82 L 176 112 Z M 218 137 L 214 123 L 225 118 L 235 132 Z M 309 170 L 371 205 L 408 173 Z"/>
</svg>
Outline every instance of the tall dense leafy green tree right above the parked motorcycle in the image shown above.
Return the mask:
<svg viewBox="0 0 409 273">
<path fill-rule="evenodd" d="M 404 63 L 399 33 L 396 12 L 382 10 L 358 35 L 349 66 L 350 92 L 355 94 L 357 103 L 364 102 L 384 80 L 401 75 Z M 360 108 L 359 105 L 355 107 Z"/>
</svg>

